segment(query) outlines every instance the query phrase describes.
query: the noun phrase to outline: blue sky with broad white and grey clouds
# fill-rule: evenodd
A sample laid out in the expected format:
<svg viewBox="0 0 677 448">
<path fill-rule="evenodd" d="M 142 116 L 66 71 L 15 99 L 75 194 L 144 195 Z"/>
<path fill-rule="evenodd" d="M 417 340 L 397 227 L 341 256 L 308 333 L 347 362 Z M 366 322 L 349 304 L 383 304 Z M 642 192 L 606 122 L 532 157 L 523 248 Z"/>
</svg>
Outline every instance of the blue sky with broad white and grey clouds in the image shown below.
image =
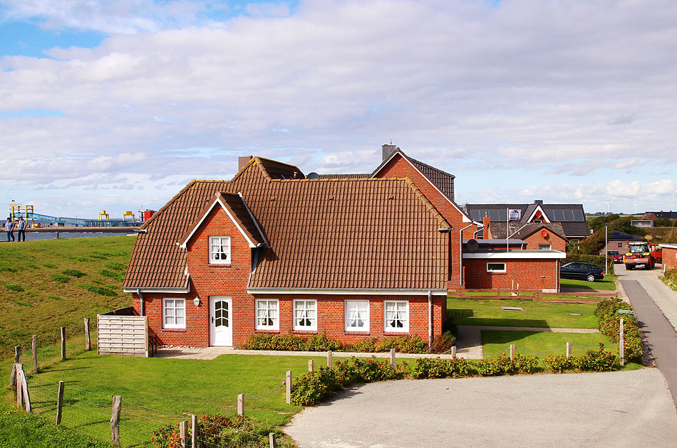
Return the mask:
<svg viewBox="0 0 677 448">
<path fill-rule="evenodd" d="M 0 189 L 117 216 L 392 139 L 459 203 L 677 210 L 676 47 L 658 0 L 0 0 Z"/>
</svg>

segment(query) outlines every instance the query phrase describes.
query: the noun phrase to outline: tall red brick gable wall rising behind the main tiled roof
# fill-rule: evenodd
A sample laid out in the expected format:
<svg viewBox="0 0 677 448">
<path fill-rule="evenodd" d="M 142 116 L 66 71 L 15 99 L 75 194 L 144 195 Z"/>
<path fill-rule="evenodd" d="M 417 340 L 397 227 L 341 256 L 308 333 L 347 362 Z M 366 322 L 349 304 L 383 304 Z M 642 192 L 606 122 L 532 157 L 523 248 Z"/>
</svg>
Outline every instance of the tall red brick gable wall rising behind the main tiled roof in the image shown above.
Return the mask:
<svg viewBox="0 0 677 448">
<path fill-rule="evenodd" d="M 433 203 L 433 206 L 438 209 L 441 215 L 445 217 L 446 220 L 454 228 L 452 235 L 452 278 L 450 285 L 455 287 L 455 285 L 460 284 L 460 252 L 461 252 L 461 243 L 458 235 L 458 231 L 464 228 L 470 223 L 463 222 L 463 215 L 460 213 L 450 202 L 449 200 L 442 195 L 439 191 L 435 189 L 433 185 L 430 184 L 427 178 L 424 178 L 418 171 L 416 171 L 408 161 L 403 159 L 402 156 L 395 156 L 390 163 L 381 169 L 376 175 L 378 178 L 384 177 L 399 177 L 404 178 L 408 177 L 410 180 L 417 186 L 420 191 L 425 194 L 425 197 Z M 477 230 L 476 225 L 471 225 L 470 228 L 467 228 L 463 232 L 463 238 L 472 238 L 473 233 Z"/>
</svg>

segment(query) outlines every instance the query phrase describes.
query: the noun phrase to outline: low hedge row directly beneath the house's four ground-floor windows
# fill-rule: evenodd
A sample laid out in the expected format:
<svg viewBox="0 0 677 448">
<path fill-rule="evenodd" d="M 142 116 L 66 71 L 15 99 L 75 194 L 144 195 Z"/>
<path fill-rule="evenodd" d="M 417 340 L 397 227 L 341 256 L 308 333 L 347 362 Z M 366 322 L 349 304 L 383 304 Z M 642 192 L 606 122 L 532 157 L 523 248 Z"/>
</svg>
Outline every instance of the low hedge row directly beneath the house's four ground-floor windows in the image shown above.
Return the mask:
<svg viewBox="0 0 677 448">
<path fill-rule="evenodd" d="M 355 343 L 343 344 L 336 338 L 325 334 L 300 336 L 298 334 L 252 334 L 244 341 L 245 350 L 279 350 L 279 351 L 355 351 L 359 353 L 377 353 L 395 348 L 399 353 L 443 353 L 456 342 L 450 331 L 435 336 L 428 349 L 428 343 L 418 335 L 406 334 L 397 338 L 366 338 Z"/>
</svg>

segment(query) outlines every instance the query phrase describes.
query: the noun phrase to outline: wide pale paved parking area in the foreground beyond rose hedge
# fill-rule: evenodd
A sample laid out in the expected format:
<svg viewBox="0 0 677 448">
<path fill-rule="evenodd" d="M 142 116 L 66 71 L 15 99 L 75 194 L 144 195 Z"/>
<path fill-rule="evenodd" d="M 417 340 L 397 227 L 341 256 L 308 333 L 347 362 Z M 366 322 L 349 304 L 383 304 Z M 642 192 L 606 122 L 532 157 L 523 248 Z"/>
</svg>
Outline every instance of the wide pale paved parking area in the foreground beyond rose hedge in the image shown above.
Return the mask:
<svg viewBox="0 0 677 448">
<path fill-rule="evenodd" d="M 285 431 L 301 448 L 668 447 L 677 411 L 656 368 L 402 380 L 346 390 Z"/>
</svg>

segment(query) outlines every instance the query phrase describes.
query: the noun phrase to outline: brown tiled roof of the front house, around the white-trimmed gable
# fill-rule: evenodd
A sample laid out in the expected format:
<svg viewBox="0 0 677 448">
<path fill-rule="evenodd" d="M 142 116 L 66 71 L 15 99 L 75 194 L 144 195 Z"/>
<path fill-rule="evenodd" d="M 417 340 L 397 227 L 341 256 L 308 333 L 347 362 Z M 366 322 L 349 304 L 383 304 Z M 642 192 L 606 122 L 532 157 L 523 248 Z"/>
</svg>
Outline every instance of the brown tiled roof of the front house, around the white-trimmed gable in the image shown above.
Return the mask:
<svg viewBox="0 0 677 448">
<path fill-rule="evenodd" d="M 217 192 L 240 192 L 271 246 L 252 289 L 446 288 L 448 233 L 438 230 L 450 225 L 411 181 L 303 177 L 255 157 L 232 181 L 192 181 L 143 225 L 123 287 L 187 287 L 176 243 Z"/>
</svg>

